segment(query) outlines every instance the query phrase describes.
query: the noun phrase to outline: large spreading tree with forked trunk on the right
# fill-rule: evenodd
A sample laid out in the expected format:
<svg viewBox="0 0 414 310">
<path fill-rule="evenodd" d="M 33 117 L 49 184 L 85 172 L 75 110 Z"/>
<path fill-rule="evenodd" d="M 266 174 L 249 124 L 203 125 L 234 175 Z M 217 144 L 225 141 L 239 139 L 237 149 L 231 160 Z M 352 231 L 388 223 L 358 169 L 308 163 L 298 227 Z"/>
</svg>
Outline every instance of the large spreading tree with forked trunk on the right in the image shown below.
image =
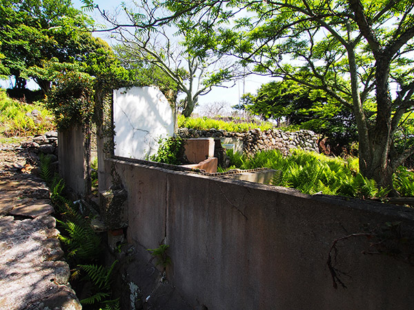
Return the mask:
<svg viewBox="0 0 414 310">
<path fill-rule="evenodd" d="M 207 19 L 199 28 L 243 12 L 231 28 L 217 28 L 221 46 L 257 72 L 323 90 L 352 109 L 360 172 L 392 188 L 393 172 L 414 153 L 412 144 L 395 147 L 414 105 L 413 1 L 167 0 L 164 6 L 175 19 Z"/>
</svg>

